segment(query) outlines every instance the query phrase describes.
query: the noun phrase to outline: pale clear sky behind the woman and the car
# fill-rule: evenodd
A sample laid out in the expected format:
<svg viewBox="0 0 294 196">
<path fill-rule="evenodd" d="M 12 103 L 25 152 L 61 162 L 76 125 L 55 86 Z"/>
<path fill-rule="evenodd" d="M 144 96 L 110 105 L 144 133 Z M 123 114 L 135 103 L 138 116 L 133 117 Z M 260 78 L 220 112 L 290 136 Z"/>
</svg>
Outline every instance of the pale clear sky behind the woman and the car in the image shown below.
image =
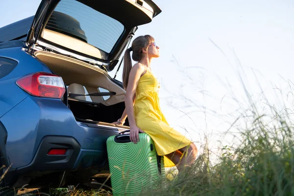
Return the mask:
<svg viewBox="0 0 294 196">
<path fill-rule="evenodd" d="M 0 0 L 0 27 L 34 15 L 39 2 Z M 261 113 L 269 104 L 281 111 L 293 105 L 294 0 L 154 2 L 162 13 L 136 36 L 155 38 L 161 56 L 151 69 L 161 109 L 198 147 L 205 135 L 212 149 L 231 144 L 222 134 L 252 103 Z"/>
</svg>

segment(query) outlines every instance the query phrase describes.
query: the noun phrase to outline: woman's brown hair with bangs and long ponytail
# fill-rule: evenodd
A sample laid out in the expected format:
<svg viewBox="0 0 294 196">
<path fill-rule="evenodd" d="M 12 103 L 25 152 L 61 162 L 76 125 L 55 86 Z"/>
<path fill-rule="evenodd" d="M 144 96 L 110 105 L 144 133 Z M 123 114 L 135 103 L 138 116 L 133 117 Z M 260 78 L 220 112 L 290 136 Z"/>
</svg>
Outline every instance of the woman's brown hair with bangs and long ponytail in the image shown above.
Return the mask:
<svg viewBox="0 0 294 196">
<path fill-rule="evenodd" d="M 128 77 L 132 69 L 132 60 L 130 55 L 131 51 L 133 51 L 132 59 L 134 61 L 139 62 L 144 57 L 144 53 L 142 52 L 143 49 L 147 49 L 152 42 L 154 42 L 154 38 L 151 35 L 139 36 L 136 39 L 134 39 L 131 48 L 128 48 L 125 50 L 124 56 L 123 56 L 123 88 L 124 89 L 126 89 L 127 87 Z"/>
</svg>

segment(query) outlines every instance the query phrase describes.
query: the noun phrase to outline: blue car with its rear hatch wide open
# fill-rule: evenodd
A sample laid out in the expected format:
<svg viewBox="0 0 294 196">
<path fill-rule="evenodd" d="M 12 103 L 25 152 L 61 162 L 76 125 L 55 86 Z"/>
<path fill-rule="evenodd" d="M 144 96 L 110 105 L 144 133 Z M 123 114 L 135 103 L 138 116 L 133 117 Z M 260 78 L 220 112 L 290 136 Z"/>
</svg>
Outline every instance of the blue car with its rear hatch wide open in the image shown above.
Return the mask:
<svg viewBox="0 0 294 196">
<path fill-rule="evenodd" d="M 0 187 L 108 177 L 106 140 L 129 128 L 112 124 L 125 91 L 108 73 L 160 12 L 151 0 L 42 0 L 35 16 L 0 28 Z"/>
</svg>

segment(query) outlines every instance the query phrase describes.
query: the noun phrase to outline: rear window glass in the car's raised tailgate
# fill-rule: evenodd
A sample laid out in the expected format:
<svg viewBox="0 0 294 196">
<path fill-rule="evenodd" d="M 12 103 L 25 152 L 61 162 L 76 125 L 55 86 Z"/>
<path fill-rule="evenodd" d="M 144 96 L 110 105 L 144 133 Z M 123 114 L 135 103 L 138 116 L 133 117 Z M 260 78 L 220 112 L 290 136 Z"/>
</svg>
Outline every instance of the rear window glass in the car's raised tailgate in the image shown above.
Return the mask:
<svg viewBox="0 0 294 196">
<path fill-rule="evenodd" d="M 124 31 L 117 20 L 75 0 L 61 0 L 46 28 L 70 35 L 109 53 Z"/>
</svg>

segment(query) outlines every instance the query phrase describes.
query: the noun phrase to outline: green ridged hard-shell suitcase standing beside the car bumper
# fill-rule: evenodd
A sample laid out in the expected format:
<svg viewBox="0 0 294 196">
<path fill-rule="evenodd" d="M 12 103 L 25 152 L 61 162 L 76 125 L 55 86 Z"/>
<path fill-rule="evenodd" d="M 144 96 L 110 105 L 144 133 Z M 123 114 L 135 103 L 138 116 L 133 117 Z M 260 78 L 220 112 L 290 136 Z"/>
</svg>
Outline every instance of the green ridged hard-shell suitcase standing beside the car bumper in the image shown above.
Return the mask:
<svg viewBox="0 0 294 196">
<path fill-rule="evenodd" d="M 165 179 L 163 156 L 158 156 L 154 142 L 146 133 L 140 133 L 140 141 L 134 144 L 129 134 L 107 139 L 107 154 L 112 193 L 137 195 Z"/>
</svg>

